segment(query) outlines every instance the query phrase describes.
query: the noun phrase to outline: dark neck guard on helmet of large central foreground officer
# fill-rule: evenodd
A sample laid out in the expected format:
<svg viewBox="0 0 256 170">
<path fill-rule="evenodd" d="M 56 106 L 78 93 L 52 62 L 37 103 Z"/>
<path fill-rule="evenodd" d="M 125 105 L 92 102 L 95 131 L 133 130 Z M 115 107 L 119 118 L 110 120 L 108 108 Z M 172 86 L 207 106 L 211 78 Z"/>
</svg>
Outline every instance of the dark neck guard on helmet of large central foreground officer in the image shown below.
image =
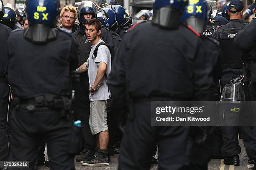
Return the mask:
<svg viewBox="0 0 256 170">
<path fill-rule="evenodd" d="M 180 25 L 181 13 L 172 7 L 161 7 L 154 12 L 153 25 L 169 30 L 177 30 Z"/>
</svg>

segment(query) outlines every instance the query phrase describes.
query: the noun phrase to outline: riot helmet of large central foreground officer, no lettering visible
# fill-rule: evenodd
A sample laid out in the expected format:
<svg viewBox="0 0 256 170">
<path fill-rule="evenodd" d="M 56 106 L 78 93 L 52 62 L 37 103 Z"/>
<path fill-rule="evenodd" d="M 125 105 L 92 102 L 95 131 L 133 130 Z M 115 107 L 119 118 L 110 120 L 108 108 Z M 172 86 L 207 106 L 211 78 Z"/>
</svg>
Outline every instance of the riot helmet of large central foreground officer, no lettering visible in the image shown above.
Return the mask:
<svg viewBox="0 0 256 170">
<path fill-rule="evenodd" d="M 187 0 L 155 0 L 152 24 L 161 28 L 177 29 L 180 25 L 180 16 L 186 5 Z"/>
</svg>

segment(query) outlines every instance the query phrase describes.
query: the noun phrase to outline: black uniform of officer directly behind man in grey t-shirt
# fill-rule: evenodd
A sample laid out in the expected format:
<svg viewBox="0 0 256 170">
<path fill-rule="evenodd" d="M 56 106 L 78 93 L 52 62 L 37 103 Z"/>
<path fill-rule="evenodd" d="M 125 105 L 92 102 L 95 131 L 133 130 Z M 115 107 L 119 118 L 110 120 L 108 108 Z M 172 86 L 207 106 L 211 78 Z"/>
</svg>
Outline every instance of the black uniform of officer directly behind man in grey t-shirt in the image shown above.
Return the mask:
<svg viewBox="0 0 256 170">
<path fill-rule="evenodd" d="M 78 43 L 78 58 L 79 66 L 87 61 L 92 44 L 87 40 L 85 34 L 84 26 L 78 28 L 73 34 L 72 37 Z M 114 45 L 113 37 L 109 30 L 102 28 L 101 38 L 104 42 Z M 95 135 L 92 135 L 91 129 L 89 126 L 89 117 L 90 117 L 90 100 L 89 100 L 89 77 L 88 72 L 80 74 L 80 82 L 75 85 L 75 119 L 81 120 L 83 123 L 82 127 L 82 137 L 85 141 L 85 148 L 83 153 L 86 153 L 88 150 L 94 150 L 96 147 L 96 138 Z M 93 154 L 92 154 L 93 155 Z M 92 156 L 91 155 L 91 156 Z"/>
</svg>

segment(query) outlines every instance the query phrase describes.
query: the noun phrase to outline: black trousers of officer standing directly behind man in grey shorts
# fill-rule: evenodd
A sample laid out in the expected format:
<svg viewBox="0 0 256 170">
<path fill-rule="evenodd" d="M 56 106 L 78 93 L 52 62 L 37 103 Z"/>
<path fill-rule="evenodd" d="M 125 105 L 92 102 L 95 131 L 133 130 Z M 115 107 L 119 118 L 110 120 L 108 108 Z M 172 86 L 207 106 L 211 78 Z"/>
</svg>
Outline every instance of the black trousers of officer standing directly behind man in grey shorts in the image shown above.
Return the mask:
<svg viewBox="0 0 256 170">
<path fill-rule="evenodd" d="M 87 150 L 95 150 L 96 137 L 92 135 L 89 118 L 90 118 L 90 100 L 89 100 L 89 79 L 81 77 L 80 83 L 75 85 L 75 120 L 82 121 L 82 138 L 85 141 L 83 153 Z"/>
</svg>

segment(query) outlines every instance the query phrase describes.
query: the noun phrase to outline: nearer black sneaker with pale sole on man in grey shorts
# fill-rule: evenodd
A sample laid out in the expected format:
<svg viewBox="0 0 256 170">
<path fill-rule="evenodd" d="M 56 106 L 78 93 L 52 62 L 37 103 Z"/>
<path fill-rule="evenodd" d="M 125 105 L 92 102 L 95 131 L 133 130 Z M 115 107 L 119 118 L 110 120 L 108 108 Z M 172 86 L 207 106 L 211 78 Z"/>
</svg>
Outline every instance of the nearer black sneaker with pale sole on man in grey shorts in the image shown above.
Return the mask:
<svg viewBox="0 0 256 170">
<path fill-rule="evenodd" d="M 86 161 L 81 161 L 85 166 L 107 166 L 109 165 L 108 150 L 98 150 L 93 157 Z"/>
</svg>

